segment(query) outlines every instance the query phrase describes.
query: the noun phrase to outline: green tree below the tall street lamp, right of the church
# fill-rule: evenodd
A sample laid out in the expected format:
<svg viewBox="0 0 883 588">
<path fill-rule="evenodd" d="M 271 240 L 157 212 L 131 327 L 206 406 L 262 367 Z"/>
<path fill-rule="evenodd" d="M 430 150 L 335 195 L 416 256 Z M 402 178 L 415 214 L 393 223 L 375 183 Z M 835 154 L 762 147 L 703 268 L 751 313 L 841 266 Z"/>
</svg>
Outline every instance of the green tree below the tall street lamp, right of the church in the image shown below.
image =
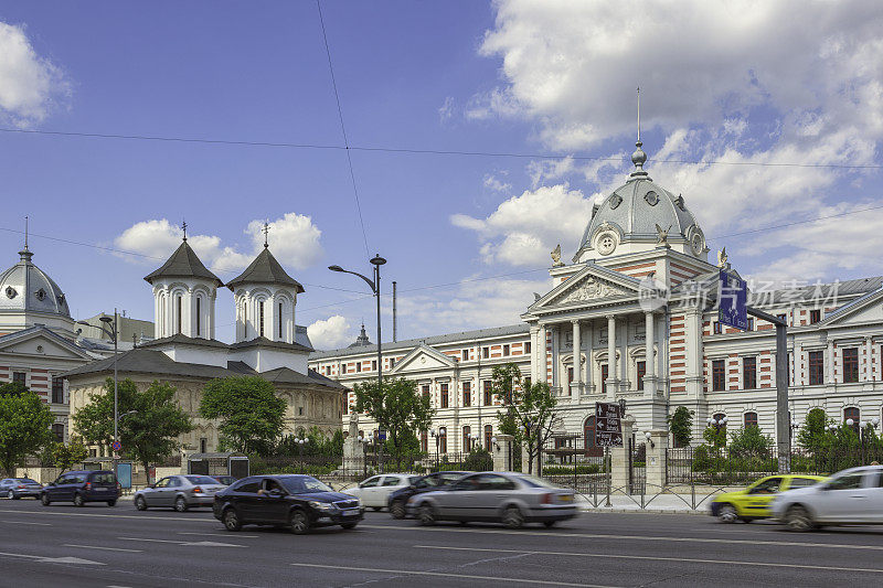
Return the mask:
<svg viewBox="0 0 883 588">
<path fill-rule="evenodd" d="M 418 431 L 429 428 L 435 410 L 428 396 L 417 393 L 417 383 L 411 379 L 385 378 L 353 386 L 355 409 L 365 413 L 389 434 L 386 448 L 396 456 L 402 455 L 417 438 Z"/>
</svg>

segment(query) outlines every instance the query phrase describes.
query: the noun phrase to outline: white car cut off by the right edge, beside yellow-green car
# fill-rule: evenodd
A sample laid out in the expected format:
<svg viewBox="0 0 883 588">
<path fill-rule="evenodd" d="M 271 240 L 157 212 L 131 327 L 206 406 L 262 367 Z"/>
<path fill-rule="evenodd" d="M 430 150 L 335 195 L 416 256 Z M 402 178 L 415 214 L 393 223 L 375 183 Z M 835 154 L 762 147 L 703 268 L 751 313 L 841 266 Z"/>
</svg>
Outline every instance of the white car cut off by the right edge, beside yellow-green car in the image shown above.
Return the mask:
<svg viewBox="0 0 883 588">
<path fill-rule="evenodd" d="M 883 525 L 883 466 L 850 468 L 773 501 L 773 517 L 791 531 L 822 525 Z"/>
</svg>

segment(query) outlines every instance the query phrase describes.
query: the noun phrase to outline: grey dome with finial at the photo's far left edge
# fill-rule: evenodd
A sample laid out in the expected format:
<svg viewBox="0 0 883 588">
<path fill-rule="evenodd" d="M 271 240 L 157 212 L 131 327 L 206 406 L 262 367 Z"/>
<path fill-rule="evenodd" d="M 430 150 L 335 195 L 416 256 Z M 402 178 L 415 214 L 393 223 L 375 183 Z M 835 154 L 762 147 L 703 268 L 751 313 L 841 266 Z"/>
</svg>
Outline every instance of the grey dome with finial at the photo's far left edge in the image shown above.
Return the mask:
<svg viewBox="0 0 883 588">
<path fill-rule="evenodd" d="M 0 274 L 0 312 L 39 312 L 71 318 L 67 299 L 58 285 L 33 265 L 33 253 L 19 252 L 18 264 Z"/>
</svg>

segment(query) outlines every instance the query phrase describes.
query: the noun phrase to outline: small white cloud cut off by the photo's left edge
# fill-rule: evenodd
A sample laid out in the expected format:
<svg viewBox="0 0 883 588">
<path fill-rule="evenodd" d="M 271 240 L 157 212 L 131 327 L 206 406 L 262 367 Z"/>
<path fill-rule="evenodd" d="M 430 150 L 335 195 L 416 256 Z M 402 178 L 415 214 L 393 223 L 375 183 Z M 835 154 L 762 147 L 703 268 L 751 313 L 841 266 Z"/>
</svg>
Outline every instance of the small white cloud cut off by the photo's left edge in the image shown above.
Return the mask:
<svg viewBox="0 0 883 588">
<path fill-rule="evenodd" d="M 36 54 L 24 26 L 0 22 L 0 116 L 30 127 L 44 120 L 70 93 L 62 71 Z"/>
</svg>

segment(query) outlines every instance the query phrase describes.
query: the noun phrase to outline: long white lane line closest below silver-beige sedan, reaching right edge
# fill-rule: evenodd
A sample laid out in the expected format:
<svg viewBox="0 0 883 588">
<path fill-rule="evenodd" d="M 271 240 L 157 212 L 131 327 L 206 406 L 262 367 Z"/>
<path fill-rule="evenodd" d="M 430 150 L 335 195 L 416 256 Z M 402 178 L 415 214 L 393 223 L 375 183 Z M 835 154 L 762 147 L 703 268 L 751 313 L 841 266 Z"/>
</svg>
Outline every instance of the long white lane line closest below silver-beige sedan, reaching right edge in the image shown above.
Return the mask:
<svg viewBox="0 0 883 588">
<path fill-rule="evenodd" d="M 720 539 L 709 537 L 669 537 L 659 535 L 603 535 L 597 533 L 554 533 L 554 532 L 531 532 L 531 531 L 508 531 L 496 528 L 455 528 L 455 527 L 439 527 L 439 526 L 391 526 L 391 525 L 361 525 L 360 528 L 394 528 L 397 531 L 428 531 L 437 533 L 469 533 L 475 534 L 492 534 L 492 535 L 521 535 L 521 536 L 536 536 L 545 538 L 554 537 L 584 537 L 589 539 L 632 539 L 632 541 L 661 541 L 661 542 L 679 542 L 679 543 L 721 543 L 725 545 L 775 545 L 780 547 L 783 545 L 789 547 L 827 547 L 837 549 L 870 549 L 883 550 L 883 545 L 851 545 L 848 543 L 809 543 L 801 541 L 760 541 L 760 539 Z"/>
</svg>

